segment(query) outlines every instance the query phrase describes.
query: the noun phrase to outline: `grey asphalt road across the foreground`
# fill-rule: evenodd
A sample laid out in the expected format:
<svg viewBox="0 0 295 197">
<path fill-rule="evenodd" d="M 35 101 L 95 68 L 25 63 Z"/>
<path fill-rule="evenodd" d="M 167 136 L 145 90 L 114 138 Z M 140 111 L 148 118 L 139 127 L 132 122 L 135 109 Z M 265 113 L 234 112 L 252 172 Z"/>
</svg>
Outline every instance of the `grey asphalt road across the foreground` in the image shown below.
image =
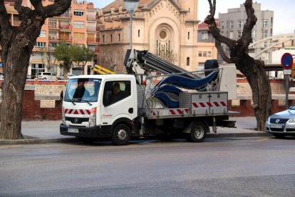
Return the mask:
<svg viewBox="0 0 295 197">
<path fill-rule="evenodd" d="M 295 196 L 295 138 L 0 146 L 0 196 Z"/>
</svg>

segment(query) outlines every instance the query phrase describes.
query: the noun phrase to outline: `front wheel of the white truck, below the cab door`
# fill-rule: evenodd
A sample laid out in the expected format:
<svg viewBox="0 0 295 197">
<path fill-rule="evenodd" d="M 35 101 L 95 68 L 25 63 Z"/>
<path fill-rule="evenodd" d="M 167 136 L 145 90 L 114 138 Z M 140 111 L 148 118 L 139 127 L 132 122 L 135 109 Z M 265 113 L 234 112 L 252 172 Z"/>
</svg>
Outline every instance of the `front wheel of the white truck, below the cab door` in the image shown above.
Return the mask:
<svg viewBox="0 0 295 197">
<path fill-rule="evenodd" d="M 115 126 L 113 130 L 112 141 L 118 146 L 128 144 L 130 141 L 130 128 L 123 123 Z"/>
</svg>

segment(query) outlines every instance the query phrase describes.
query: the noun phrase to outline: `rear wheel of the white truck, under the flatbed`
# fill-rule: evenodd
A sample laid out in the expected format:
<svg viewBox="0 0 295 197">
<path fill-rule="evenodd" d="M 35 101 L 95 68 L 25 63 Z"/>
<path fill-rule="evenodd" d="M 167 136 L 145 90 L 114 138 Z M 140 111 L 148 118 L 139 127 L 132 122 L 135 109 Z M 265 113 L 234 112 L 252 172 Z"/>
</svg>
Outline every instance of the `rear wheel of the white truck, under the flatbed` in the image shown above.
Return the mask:
<svg viewBox="0 0 295 197">
<path fill-rule="evenodd" d="M 190 123 L 189 133 L 186 135 L 186 140 L 190 142 L 202 142 L 205 140 L 209 132 L 209 126 L 202 121 L 193 121 Z"/>
</svg>

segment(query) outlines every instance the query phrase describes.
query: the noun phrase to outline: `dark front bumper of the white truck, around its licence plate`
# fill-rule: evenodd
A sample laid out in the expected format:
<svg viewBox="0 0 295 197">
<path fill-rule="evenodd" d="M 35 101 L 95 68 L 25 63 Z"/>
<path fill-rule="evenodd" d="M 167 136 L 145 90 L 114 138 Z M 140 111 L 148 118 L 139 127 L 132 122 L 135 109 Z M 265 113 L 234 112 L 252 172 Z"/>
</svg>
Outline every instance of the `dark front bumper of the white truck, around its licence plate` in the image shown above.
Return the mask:
<svg viewBox="0 0 295 197">
<path fill-rule="evenodd" d="M 68 132 L 68 128 L 78 129 L 78 133 Z M 80 127 L 80 126 L 65 126 L 61 123 L 59 131 L 63 136 L 76 136 L 83 138 L 108 138 L 111 135 L 110 129 L 100 126 Z"/>
</svg>

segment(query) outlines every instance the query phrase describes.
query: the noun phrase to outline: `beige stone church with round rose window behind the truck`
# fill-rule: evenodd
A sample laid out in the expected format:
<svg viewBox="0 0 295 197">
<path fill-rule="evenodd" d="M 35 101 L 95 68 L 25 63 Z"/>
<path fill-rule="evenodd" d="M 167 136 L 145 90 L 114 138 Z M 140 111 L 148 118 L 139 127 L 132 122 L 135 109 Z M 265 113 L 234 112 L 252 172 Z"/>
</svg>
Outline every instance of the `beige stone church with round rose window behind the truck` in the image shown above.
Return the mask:
<svg viewBox="0 0 295 197">
<path fill-rule="evenodd" d="M 133 49 L 148 50 L 152 54 L 175 54 L 173 63 L 187 71 L 195 71 L 200 62 L 217 59 L 214 44 L 197 41 L 198 1 L 140 0 L 133 14 Z M 123 0 L 98 11 L 100 16 L 100 58 L 98 64 L 124 73 L 125 51 L 130 48 L 130 15 Z M 199 51 L 211 56 L 200 57 Z"/>
</svg>

